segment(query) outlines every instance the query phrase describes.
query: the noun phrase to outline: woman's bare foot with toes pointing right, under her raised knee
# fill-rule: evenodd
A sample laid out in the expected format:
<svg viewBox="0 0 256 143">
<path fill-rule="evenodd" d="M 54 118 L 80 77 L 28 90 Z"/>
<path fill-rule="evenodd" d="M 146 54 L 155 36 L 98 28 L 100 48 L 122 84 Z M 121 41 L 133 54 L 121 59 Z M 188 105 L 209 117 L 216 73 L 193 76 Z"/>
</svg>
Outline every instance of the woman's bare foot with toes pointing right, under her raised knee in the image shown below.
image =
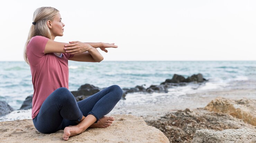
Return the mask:
<svg viewBox="0 0 256 143">
<path fill-rule="evenodd" d="M 89 128 L 107 128 L 110 126 L 115 118 L 103 116 L 97 123 L 93 123 Z"/>
</svg>

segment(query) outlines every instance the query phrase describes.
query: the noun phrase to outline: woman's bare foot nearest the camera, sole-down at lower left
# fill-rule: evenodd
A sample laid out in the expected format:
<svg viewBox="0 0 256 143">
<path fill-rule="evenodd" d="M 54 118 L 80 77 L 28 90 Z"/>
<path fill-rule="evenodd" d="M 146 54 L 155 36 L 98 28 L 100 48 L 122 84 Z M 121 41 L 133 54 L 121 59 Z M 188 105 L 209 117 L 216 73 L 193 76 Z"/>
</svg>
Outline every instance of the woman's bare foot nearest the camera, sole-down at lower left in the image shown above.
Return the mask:
<svg viewBox="0 0 256 143">
<path fill-rule="evenodd" d="M 78 128 L 75 125 L 74 126 L 70 125 L 64 129 L 64 133 L 63 133 L 62 137 L 64 140 L 68 140 L 68 137 L 78 135 L 80 133 L 82 133 L 82 129 Z"/>
</svg>

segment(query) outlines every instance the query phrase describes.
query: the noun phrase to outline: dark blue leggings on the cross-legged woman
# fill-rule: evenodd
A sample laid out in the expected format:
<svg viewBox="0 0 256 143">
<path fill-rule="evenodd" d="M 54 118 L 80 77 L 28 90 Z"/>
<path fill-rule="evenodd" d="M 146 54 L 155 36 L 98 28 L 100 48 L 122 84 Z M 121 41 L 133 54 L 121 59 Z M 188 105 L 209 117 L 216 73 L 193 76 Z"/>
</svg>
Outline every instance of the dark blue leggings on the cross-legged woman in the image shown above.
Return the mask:
<svg viewBox="0 0 256 143">
<path fill-rule="evenodd" d="M 76 102 L 72 93 L 61 87 L 45 99 L 33 123 L 41 133 L 54 133 L 64 130 L 66 126 L 76 125 L 83 115 L 92 114 L 98 121 L 115 107 L 122 94 L 118 85 L 112 85 Z"/>
</svg>

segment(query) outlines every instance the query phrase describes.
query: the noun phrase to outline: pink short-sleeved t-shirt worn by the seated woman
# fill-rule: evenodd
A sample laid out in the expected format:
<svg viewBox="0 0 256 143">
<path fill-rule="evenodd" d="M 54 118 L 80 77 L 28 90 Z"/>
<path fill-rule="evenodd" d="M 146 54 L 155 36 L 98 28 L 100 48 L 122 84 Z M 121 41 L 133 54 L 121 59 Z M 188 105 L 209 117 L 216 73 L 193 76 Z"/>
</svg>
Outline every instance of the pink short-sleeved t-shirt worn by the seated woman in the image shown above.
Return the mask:
<svg viewBox="0 0 256 143">
<path fill-rule="evenodd" d="M 60 87 L 68 89 L 68 59 L 74 55 L 63 53 L 63 57 L 58 57 L 54 53 L 45 54 L 48 40 L 44 36 L 35 36 L 27 45 L 27 57 L 34 86 L 32 119 L 36 117 L 44 100 L 54 90 Z"/>
</svg>

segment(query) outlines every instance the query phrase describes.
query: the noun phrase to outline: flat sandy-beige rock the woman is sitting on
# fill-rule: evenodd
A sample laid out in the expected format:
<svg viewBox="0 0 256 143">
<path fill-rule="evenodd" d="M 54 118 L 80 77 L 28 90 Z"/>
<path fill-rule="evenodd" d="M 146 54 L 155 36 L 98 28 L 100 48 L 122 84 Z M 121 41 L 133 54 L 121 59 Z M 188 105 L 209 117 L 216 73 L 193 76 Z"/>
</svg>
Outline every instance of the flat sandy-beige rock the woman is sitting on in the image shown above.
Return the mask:
<svg viewBox="0 0 256 143">
<path fill-rule="evenodd" d="M 90 128 L 66 142 L 86 143 L 170 143 L 163 132 L 149 126 L 141 117 L 112 115 L 116 120 L 108 128 Z M 59 143 L 63 130 L 52 134 L 38 132 L 32 120 L 0 122 L 0 142 Z"/>
</svg>

